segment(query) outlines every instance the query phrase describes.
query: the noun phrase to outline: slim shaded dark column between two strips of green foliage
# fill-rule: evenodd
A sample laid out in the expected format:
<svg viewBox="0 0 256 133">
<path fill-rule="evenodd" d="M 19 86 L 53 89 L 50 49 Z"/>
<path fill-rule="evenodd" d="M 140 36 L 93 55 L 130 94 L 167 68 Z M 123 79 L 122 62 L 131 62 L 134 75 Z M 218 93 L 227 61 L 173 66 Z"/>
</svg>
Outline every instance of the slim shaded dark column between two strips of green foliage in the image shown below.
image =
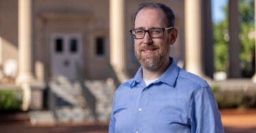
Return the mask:
<svg viewBox="0 0 256 133">
<path fill-rule="evenodd" d="M 238 0 L 229 0 L 229 78 L 240 78 Z"/>
</svg>

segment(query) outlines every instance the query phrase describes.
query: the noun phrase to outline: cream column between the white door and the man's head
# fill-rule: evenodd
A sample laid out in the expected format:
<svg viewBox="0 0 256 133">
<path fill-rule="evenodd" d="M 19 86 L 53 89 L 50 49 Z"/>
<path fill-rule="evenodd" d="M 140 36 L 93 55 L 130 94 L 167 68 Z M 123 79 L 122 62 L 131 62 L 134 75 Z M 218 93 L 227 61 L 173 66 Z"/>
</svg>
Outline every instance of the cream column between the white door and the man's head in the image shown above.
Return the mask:
<svg viewBox="0 0 256 133">
<path fill-rule="evenodd" d="M 124 0 L 110 0 L 110 62 L 124 70 Z"/>
</svg>

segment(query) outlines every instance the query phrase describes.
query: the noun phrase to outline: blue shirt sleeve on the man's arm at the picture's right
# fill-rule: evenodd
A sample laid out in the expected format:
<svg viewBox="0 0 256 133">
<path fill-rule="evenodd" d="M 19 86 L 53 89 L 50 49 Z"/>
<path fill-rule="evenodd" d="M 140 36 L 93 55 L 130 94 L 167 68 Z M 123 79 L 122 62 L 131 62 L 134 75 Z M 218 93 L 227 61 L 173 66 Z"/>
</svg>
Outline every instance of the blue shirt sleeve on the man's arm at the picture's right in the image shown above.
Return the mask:
<svg viewBox="0 0 256 133">
<path fill-rule="evenodd" d="M 210 87 L 195 91 L 190 103 L 190 111 L 192 132 L 224 132 L 218 105 Z"/>
</svg>

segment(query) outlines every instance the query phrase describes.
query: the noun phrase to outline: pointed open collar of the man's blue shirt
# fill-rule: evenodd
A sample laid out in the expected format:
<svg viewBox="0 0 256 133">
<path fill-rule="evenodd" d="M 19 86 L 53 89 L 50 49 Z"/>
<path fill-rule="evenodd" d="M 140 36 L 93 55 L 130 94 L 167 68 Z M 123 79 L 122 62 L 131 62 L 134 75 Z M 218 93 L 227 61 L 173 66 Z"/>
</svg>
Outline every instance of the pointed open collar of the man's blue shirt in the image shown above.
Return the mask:
<svg viewBox="0 0 256 133">
<path fill-rule="evenodd" d="M 173 87 L 175 85 L 177 76 L 179 75 L 179 67 L 177 66 L 177 63 L 174 61 L 172 57 L 170 57 L 170 61 L 171 65 L 169 65 L 167 70 L 165 70 L 165 72 L 155 82 L 161 81 L 162 83 L 166 83 Z M 136 86 L 138 83 L 141 83 L 142 81 L 142 67 L 140 67 L 137 73 L 135 74 L 132 83 L 130 84 L 130 87 L 132 88 Z"/>
</svg>

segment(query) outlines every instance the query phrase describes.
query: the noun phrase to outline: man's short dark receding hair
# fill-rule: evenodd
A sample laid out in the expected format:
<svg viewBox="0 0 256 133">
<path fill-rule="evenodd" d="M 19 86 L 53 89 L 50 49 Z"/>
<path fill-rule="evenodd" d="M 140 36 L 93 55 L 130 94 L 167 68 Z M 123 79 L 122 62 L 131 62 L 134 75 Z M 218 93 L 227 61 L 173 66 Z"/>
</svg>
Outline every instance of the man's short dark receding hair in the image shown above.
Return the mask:
<svg viewBox="0 0 256 133">
<path fill-rule="evenodd" d="M 139 11 L 141 11 L 144 8 L 160 8 L 165 13 L 165 19 L 167 21 L 167 27 L 174 27 L 175 24 L 175 15 L 173 13 L 173 10 L 169 8 L 167 5 L 163 3 L 141 3 L 139 4 L 139 8 L 134 14 L 133 23 L 135 23 L 135 19 Z"/>
</svg>

